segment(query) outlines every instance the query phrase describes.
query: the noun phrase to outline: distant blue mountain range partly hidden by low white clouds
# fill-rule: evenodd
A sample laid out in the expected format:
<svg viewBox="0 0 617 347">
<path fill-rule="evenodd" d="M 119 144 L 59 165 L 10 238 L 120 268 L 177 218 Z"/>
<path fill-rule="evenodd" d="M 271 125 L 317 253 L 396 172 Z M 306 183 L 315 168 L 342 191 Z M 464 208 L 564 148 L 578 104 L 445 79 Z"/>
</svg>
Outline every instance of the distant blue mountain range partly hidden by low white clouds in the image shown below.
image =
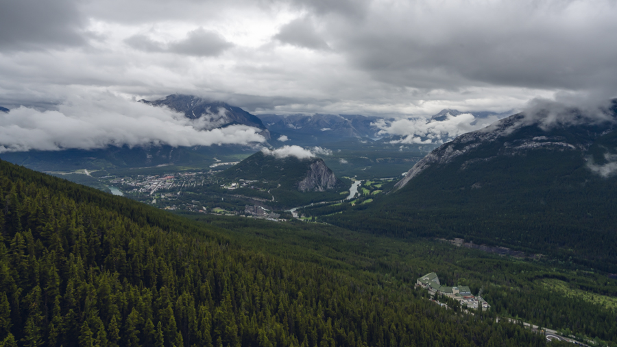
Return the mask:
<svg viewBox="0 0 617 347">
<path fill-rule="evenodd" d="M 199 130 L 225 128 L 230 125 L 247 125 L 257 128 L 267 140 L 266 145 L 322 145 L 323 143 L 341 143 L 345 140 L 373 141 L 385 136 L 376 145 L 392 147 L 391 142 L 400 140 L 401 136 L 380 131 L 380 125 L 387 125 L 394 119 L 383 117 L 365 117 L 363 115 L 252 115 L 242 108 L 231 106 L 221 101 L 210 101 L 194 95 L 173 94 L 161 99 L 140 100 L 153 107 L 165 107 L 176 111 L 189 119 L 194 119 L 193 126 Z M 8 109 L 1 108 L 3 112 Z M 476 112 L 483 117 L 489 112 Z M 459 115 L 457 110 L 444 110 L 435 115 L 431 121 L 447 121 L 452 115 Z M 445 117 L 445 118 L 444 118 Z M 443 118 L 443 119 L 442 119 Z M 392 148 L 388 148 L 390 150 Z M 172 147 L 169 145 L 149 145 L 145 147 L 128 147 L 108 145 L 101 149 L 64 149 L 61 151 L 29 151 L 3 153 L 1 157 L 12 163 L 25 165 L 40 171 L 65 171 L 77 167 L 86 169 L 149 167 L 156 165 L 194 165 L 212 161 L 221 152 L 245 154 L 254 152 L 254 148 L 245 145 L 225 145 L 213 147 Z"/>
</svg>

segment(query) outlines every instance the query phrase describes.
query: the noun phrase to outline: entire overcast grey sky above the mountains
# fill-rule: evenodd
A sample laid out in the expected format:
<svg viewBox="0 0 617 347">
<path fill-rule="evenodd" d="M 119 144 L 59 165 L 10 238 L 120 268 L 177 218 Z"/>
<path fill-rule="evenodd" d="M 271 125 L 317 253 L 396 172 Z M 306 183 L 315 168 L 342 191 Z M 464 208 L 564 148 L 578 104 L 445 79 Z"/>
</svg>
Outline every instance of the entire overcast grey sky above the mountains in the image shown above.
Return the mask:
<svg viewBox="0 0 617 347">
<path fill-rule="evenodd" d="M 617 2 L 0 0 L 0 106 L 189 93 L 255 113 L 615 97 Z"/>
</svg>

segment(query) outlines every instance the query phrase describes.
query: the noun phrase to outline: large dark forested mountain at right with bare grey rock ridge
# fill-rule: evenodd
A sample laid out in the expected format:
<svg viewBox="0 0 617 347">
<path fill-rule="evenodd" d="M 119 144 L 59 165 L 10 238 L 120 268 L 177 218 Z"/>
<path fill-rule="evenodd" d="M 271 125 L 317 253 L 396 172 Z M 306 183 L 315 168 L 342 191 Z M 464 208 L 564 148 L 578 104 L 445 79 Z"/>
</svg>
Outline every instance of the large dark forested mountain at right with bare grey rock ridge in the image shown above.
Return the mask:
<svg viewBox="0 0 617 347">
<path fill-rule="evenodd" d="M 607 118 L 616 114 L 617 102 Z M 614 125 L 547 129 L 513 115 L 435 149 L 398 190 L 362 211 L 325 220 L 379 234 L 461 237 L 615 273 Z"/>
</svg>

